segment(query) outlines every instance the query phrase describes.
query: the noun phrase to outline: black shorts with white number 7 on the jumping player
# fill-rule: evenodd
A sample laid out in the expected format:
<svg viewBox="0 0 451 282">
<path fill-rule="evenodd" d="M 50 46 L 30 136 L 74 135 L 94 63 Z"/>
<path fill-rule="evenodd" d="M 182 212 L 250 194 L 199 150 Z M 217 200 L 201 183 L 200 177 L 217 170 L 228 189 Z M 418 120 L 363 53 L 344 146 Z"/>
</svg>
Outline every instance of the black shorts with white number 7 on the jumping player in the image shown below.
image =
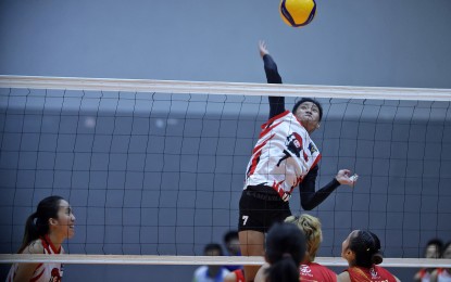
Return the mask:
<svg viewBox="0 0 451 282">
<path fill-rule="evenodd" d="M 266 233 L 273 223 L 283 222 L 289 216 L 288 202 L 284 202 L 271 187 L 248 187 L 239 201 L 238 231 Z"/>
</svg>

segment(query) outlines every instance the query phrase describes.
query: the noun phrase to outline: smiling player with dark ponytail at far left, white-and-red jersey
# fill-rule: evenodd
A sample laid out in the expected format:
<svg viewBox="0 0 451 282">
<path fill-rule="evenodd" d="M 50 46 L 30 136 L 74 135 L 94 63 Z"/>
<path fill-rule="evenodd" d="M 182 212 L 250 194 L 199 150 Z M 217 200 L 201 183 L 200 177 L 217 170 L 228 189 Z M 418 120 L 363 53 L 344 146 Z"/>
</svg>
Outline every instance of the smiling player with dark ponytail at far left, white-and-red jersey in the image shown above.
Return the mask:
<svg viewBox="0 0 451 282">
<path fill-rule="evenodd" d="M 49 196 L 39 202 L 25 225 L 18 254 L 64 254 L 62 243 L 74 235 L 75 216 L 61 196 Z M 53 264 L 14 264 L 7 281 L 59 282 L 63 266 Z"/>
</svg>

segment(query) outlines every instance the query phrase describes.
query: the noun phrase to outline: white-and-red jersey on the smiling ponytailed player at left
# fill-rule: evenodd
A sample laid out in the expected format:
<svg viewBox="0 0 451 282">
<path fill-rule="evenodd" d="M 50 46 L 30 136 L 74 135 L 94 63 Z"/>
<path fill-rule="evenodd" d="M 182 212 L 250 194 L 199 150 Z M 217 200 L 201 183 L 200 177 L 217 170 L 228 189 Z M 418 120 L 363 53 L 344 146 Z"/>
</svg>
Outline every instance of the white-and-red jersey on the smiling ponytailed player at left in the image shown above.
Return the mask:
<svg viewBox="0 0 451 282">
<path fill-rule="evenodd" d="M 46 239 L 38 239 L 40 240 L 40 243 L 43 247 L 43 254 L 46 255 L 59 255 L 64 254 L 63 247 L 60 247 L 60 249 L 57 249 L 48 236 Z M 36 241 L 35 241 L 36 242 Z M 14 264 L 10 272 L 8 273 L 7 282 L 14 281 L 14 277 L 16 274 L 18 268 L 18 264 Z M 46 264 L 39 264 L 35 272 L 33 273 L 33 277 L 29 281 L 33 282 L 61 282 L 61 278 L 63 277 L 63 266 L 59 262 L 46 262 Z"/>
</svg>

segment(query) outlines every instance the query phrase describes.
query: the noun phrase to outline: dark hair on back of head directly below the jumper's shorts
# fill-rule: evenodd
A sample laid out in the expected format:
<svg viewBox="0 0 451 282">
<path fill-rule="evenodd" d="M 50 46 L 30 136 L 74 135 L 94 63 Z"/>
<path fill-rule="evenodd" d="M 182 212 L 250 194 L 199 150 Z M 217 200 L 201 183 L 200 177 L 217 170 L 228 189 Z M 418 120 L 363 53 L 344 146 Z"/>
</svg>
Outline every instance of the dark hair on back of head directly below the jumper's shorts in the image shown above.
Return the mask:
<svg viewBox="0 0 451 282">
<path fill-rule="evenodd" d="M 275 223 L 266 235 L 266 281 L 299 282 L 299 265 L 305 256 L 305 236 L 292 223 Z"/>
</svg>

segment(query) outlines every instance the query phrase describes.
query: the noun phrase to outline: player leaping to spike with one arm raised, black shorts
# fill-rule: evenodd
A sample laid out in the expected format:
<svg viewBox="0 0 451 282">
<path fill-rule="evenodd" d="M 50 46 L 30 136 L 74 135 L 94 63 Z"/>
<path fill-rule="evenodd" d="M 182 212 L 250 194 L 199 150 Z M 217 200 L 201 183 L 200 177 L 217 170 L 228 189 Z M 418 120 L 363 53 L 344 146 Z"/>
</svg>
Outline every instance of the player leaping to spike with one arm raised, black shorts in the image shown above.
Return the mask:
<svg viewBox="0 0 451 282">
<path fill-rule="evenodd" d="M 277 65 L 266 44 L 260 42 L 268 84 L 281 84 Z M 341 169 L 324 188 L 315 191 L 321 153 L 310 134 L 320 128 L 321 104 L 301 99 L 292 112 L 285 110 L 284 97 L 270 97 L 270 119 L 262 126 L 246 174 L 239 203 L 239 240 L 241 254 L 262 256 L 265 232 L 274 222 L 291 215 L 288 200 L 299 185 L 303 209 L 320 205 L 340 184 L 353 185 L 349 169 Z M 259 267 L 246 266 L 247 281 L 253 281 Z"/>
</svg>

